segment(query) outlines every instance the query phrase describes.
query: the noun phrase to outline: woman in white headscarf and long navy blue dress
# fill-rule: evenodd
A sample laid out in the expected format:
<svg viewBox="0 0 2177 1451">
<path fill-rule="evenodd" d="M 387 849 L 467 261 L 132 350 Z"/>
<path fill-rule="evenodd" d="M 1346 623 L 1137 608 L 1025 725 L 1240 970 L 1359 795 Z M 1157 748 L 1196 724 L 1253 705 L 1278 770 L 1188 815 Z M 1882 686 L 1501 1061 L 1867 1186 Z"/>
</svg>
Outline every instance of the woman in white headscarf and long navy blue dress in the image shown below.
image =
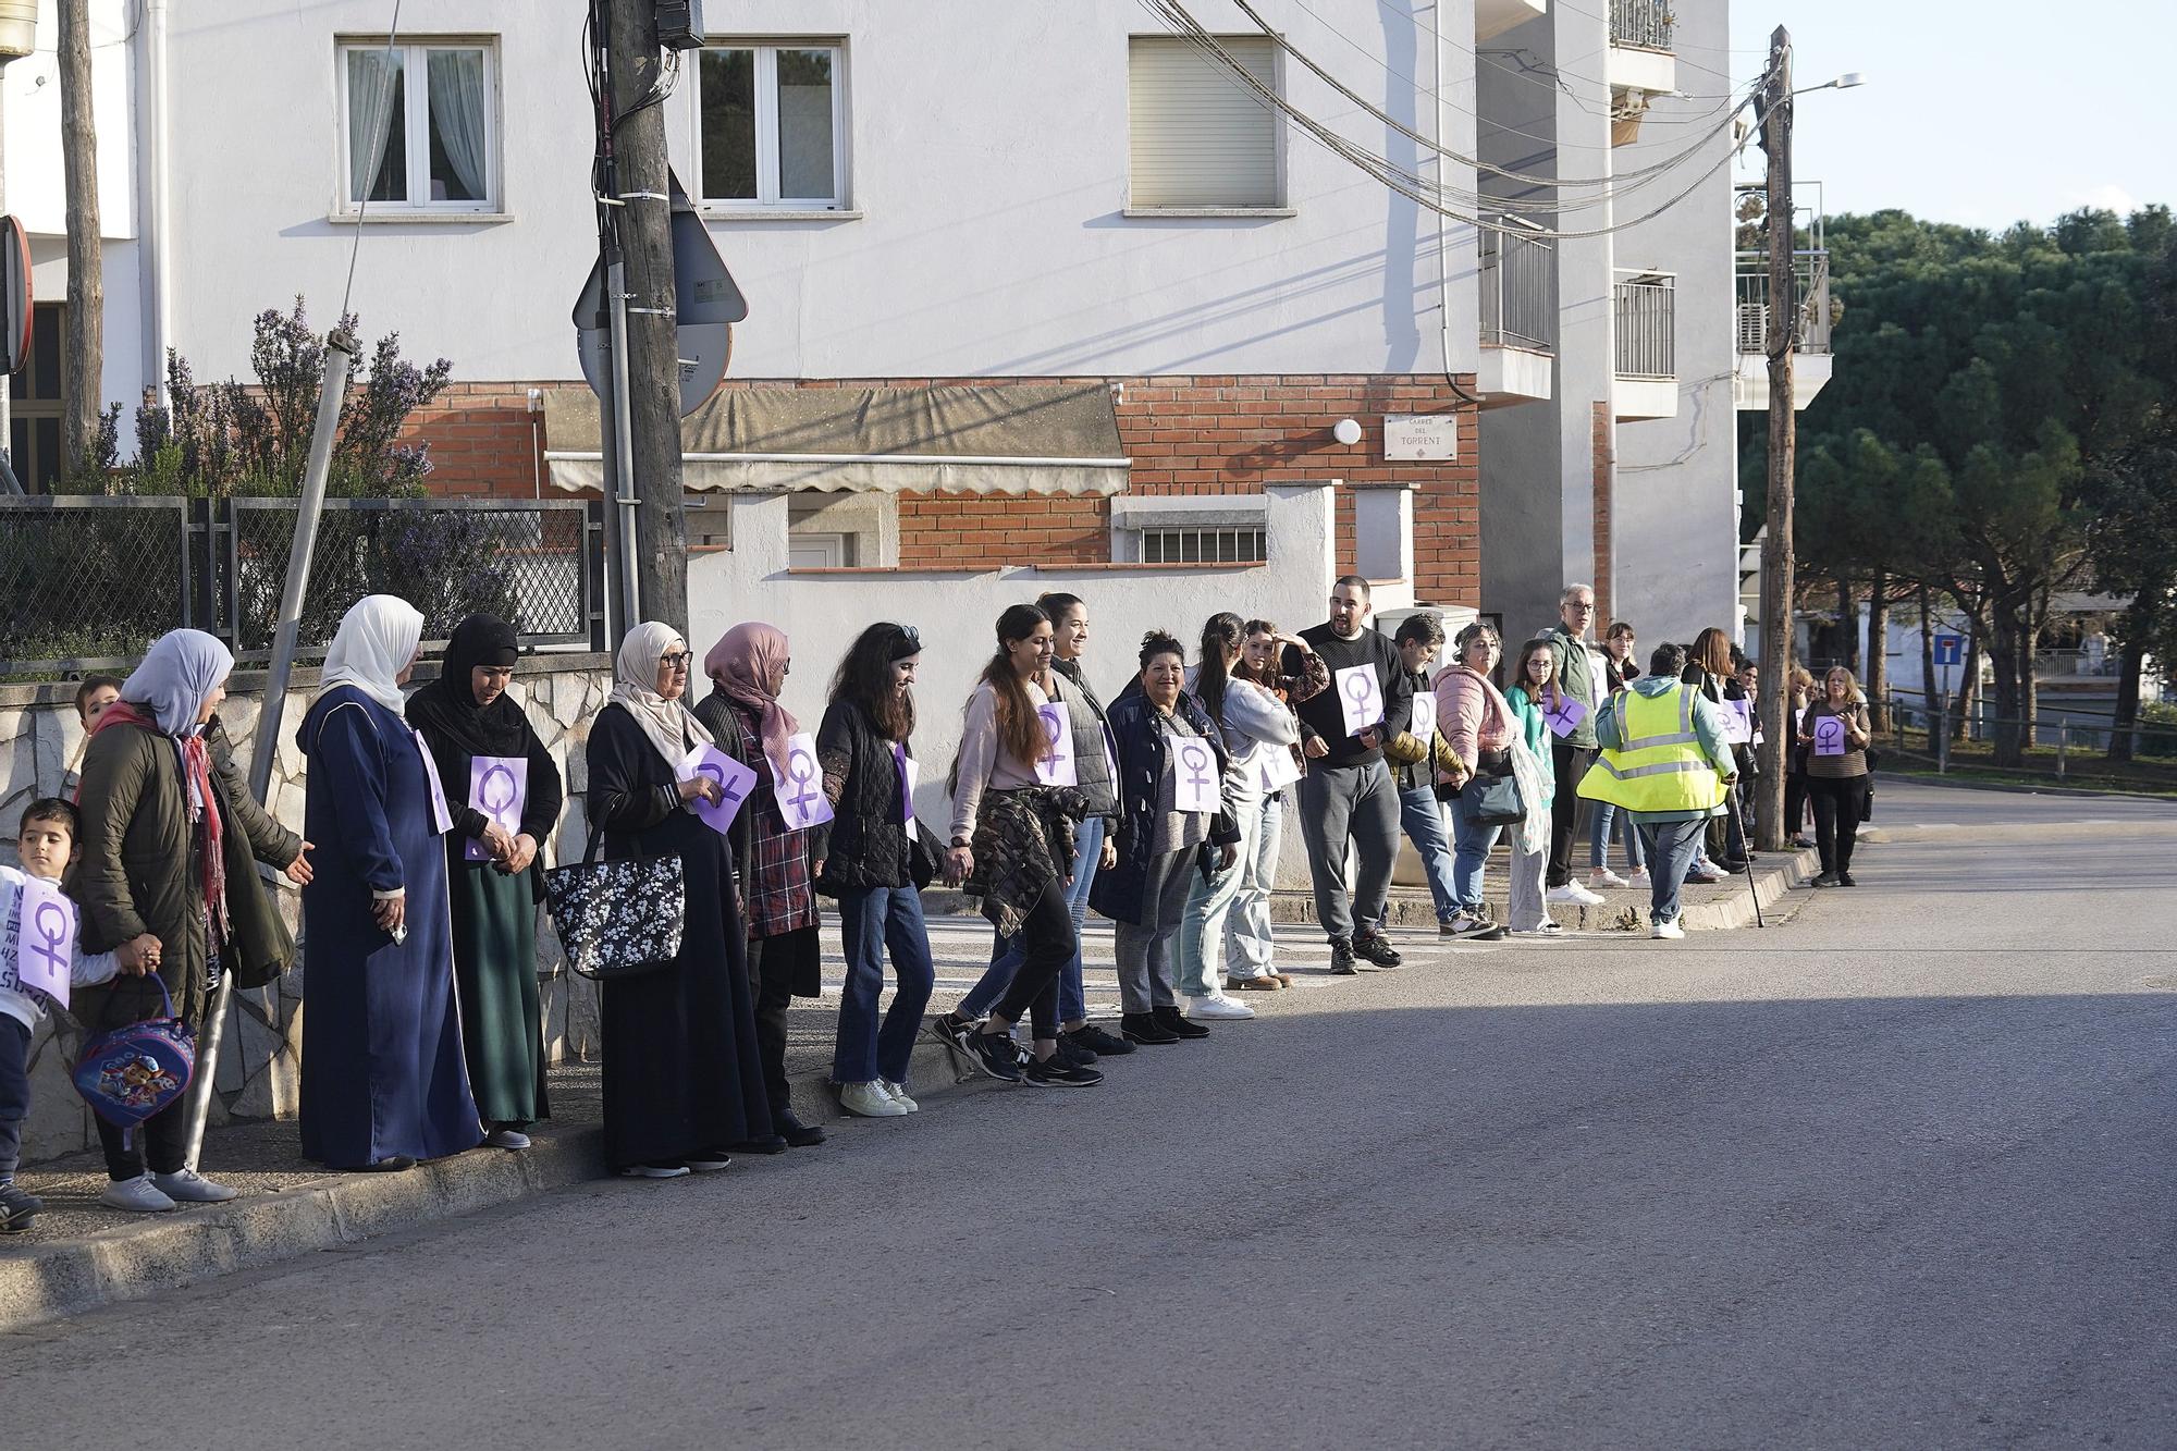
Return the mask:
<svg viewBox="0 0 2177 1451">
<path fill-rule="evenodd" d="M 438 771 L 401 715 L 422 641 L 405 599 L 340 621 L 296 743 L 305 830 L 327 843 L 303 889 L 303 1153 L 405 1170 L 483 1139 L 462 1061 Z"/>
</svg>

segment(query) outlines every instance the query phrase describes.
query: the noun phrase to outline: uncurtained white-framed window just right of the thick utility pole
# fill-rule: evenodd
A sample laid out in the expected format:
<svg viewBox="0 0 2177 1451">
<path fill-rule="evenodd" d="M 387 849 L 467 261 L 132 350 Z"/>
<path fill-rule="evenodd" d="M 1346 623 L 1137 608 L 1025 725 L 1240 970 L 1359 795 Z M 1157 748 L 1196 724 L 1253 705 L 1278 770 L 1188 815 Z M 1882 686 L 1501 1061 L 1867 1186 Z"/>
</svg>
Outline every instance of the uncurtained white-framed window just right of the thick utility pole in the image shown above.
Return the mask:
<svg viewBox="0 0 2177 1451">
<path fill-rule="evenodd" d="M 838 211 L 847 205 L 845 48 L 738 44 L 697 65 L 697 176 L 710 207 Z"/>
</svg>

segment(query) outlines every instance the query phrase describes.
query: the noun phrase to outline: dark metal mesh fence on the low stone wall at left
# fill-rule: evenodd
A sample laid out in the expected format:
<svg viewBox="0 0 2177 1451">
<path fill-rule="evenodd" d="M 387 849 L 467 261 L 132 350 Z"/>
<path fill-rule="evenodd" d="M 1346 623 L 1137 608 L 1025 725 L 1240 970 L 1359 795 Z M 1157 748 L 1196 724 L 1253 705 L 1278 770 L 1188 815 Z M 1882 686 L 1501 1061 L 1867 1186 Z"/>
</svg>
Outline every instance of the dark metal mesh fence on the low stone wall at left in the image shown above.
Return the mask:
<svg viewBox="0 0 2177 1451">
<path fill-rule="evenodd" d="M 120 669 L 192 625 L 272 658 L 294 499 L 0 499 L 0 675 Z M 603 649 L 603 508 L 581 499 L 327 499 L 300 651 L 364 595 L 401 595 L 444 641 L 464 614 L 531 649 Z"/>
</svg>

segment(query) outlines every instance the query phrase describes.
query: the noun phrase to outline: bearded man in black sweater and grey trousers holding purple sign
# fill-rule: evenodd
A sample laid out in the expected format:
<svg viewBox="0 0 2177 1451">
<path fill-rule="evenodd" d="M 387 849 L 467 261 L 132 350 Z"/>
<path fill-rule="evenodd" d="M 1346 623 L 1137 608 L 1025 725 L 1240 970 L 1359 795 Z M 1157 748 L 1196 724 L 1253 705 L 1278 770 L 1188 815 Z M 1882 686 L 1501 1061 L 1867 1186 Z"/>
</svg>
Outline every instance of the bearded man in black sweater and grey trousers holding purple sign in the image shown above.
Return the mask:
<svg viewBox="0 0 2177 1451">
<path fill-rule="evenodd" d="M 1330 972 L 1358 972 L 1361 961 L 1398 967 L 1400 956 L 1378 930 L 1398 858 L 1398 784 L 1385 765 L 1385 743 L 1413 717 L 1413 684 L 1382 632 L 1367 625 L 1367 580 L 1345 575 L 1330 590 L 1330 621 L 1300 638 L 1324 658 L 1330 688 L 1295 706 L 1308 773 L 1300 780 L 1300 837 L 1308 843 L 1315 919 L 1330 937 Z M 1287 669 L 1300 669 L 1287 651 Z M 1374 680 L 1374 684 L 1369 684 Z M 1367 704 L 1367 723 L 1348 730 L 1348 704 Z M 1395 721 L 1389 730 L 1387 721 Z M 1345 898 L 1348 843 L 1358 856 L 1352 900 Z"/>
</svg>

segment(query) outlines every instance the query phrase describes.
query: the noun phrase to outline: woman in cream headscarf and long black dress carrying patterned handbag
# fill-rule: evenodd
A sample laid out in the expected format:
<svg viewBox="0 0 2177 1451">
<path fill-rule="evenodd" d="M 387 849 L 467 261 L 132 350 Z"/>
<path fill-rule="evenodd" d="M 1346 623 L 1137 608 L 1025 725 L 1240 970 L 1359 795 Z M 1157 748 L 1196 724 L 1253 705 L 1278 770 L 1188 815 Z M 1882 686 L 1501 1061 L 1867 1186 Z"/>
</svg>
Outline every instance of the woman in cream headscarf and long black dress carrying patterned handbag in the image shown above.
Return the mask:
<svg viewBox="0 0 2177 1451">
<path fill-rule="evenodd" d="M 710 730 L 688 710 L 688 641 L 636 625 L 620 641 L 612 699 L 590 726 L 590 830 L 605 856 L 681 858 L 681 950 L 671 965 L 605 983 L 605 1163 L 634 1179 L 723 1170 L 771 1135 L 749 993 L 734 852 L 694 815 L 714 776 L 677 767 Z"/>
</svg>

